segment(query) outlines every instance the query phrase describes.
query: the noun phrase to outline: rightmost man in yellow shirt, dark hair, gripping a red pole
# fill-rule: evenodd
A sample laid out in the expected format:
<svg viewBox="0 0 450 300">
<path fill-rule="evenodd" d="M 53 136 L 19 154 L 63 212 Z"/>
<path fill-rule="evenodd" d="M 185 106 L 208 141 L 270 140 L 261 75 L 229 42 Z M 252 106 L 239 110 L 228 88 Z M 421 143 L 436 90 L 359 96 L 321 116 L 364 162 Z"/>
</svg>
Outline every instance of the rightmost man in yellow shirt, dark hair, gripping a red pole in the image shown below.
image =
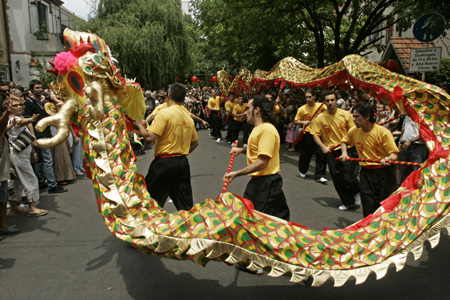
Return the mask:
<svg viewBox="0 0 450 300">
<path fill-rule="evenodd" d="M 389 129 L 375 124 L 372 106 L 362 102 L 353 109 L 356 127 L 350 129 L 342 140 L 341 161 L 349 156 L 347 147 L 355 145 L 359 158 L 379 159 L 380 164 L 360 162 L 361 203 L 364 217 L 374 213 L 380 202 L 390 196 L 396 185 L 395 166 L 390 161 L 397 160 L 400 151 Z"/>
</svg>

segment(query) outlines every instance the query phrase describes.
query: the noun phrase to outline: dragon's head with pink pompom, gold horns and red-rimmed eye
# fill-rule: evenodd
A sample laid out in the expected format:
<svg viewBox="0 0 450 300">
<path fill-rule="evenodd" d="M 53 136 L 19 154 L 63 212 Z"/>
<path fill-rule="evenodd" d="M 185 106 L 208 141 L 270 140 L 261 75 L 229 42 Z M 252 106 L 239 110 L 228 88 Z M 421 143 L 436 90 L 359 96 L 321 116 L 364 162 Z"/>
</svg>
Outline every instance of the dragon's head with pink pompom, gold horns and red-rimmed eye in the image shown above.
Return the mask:
<svg viewBox="0 0 450 300">
<path fill-rule="evenodd" d="M 116 98 L 131 118 L 141 120 L 145 112 L 141 87 L 121 76 L 105 41 L 93 33 L 68 28 L 64 30 L 64 41 L 69 51 L 58 53 L 50 62 L 53 69 L 47 70 L 55 74 L 51 88 L 64 104 L 36 125 L 37 130 L 53 125 L 58 132 L 52 138 L 39 140 L 39 146 L 51 148 L 67 139 L 70 119 L 86 101 L 92 104 L 91 115 L 101 119 L 105 113 L 104 96 Z"/>
</svg>

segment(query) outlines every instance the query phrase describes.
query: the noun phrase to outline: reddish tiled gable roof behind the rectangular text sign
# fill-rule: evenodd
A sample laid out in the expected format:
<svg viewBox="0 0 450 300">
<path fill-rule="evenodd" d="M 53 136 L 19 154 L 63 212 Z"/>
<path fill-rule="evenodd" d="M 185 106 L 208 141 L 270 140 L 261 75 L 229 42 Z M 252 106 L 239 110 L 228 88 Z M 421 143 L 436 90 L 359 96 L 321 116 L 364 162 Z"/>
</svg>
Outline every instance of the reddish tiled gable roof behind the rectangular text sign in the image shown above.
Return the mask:
<svg viewBox="0 0 450 300">
<path fill-rule="evenodd" d="M 428 46 L 427 46 L 428 44 Z M 409 72 L 409 56 L 411 54 L 411 49 L 416 48 L 431 48 L 434 47 L 434 43 L 422 43 L 415 38 L 405 38 L 405 37 L 391 37 L 389 44 L 386 47 L 386 51 L 381 58 L 381 61 L 386 61 L 393 58 L 394 53 L 397 59 L 400 60 L 406 73 Z M 390 50 L 390 51 L 389 51 Z M 394 53 L 392 53 L 394 52 Z"/>
</svg>

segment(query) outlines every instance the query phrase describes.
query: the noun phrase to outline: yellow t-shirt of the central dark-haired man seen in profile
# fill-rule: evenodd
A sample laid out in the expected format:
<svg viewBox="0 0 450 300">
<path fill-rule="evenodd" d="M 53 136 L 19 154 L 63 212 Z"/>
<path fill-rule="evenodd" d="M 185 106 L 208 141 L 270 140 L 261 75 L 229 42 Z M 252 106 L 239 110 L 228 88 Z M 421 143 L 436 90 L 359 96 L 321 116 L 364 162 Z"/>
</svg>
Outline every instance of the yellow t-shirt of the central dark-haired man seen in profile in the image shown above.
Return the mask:
<svg viewBox="0 0 450 300">
<path fill-rule="evenodd" d="M 262 123 L 253 128 L 248 138 L 247 164 L 258 160 L 259 155 L 270 157 L 266 168 L 249 176 L 273 175 L 280 172 L 280 136 L 275 126 Z"/>
</svg>

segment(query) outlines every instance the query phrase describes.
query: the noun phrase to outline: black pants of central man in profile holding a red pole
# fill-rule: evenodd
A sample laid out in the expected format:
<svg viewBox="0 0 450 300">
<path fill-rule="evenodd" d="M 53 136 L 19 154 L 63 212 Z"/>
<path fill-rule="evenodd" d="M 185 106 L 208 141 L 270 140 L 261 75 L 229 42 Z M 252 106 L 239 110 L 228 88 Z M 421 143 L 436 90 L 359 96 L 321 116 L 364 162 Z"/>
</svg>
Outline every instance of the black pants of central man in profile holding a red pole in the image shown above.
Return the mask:
<svg viewBox="0 0 450 300">
<path fill-rule="evenodd" d="M 252 177 L 245 188 L 244 198 L 252 201 L 256 210 L 289 221 L 289 207 L 279 174 Z"/>
</svg>

